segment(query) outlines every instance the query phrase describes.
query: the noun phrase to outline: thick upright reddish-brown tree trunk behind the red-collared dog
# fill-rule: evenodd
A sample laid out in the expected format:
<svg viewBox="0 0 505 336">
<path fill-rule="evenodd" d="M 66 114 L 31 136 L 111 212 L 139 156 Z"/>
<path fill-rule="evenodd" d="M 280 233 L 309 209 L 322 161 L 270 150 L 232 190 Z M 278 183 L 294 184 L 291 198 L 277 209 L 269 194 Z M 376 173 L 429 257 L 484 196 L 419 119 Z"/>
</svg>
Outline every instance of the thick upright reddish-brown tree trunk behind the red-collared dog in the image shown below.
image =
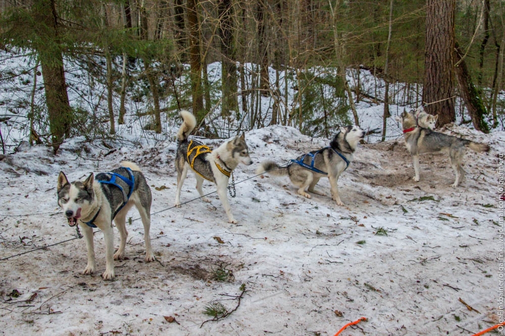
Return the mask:
<svg viewBox="0 0 505 336">
<path fill-rule="evenodd" d="M 425 70 L 423 102 L 438 125 L 456 120 L 454 47 L 456 0 L 426 1 Z"/>
</svg>

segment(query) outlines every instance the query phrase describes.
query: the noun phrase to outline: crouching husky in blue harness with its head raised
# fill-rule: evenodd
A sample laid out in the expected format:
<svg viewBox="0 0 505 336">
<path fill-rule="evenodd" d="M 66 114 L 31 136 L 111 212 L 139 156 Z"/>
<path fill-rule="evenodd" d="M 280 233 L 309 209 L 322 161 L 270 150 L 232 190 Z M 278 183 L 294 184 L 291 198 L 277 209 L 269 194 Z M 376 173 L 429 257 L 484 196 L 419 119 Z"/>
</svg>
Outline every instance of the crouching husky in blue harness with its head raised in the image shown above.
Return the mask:
<svg viewBox="0 0 505 336">
<path fill-rule="evenodd" d="M 343 206 L 338 194 L 337 181 L 340 174 L 352 160 L 352 153 L 358 142 L 365 137 L 365 131 L 359 126 L 349 125 L 340 127 L 329 147 L 299 156 L 286 167 L 280 167 L 273 161 L 264 161 L 256 170 L 257 174 L 268 172 L 272 175 L 288 175 L 291 182 L 298 186 L 298 193 L 311 198 L 305 190 L 323 195 L 314 189 L 319 179 L 328 176 L 331 186 L 331 197 L 337 205 Z"/>
</svg>

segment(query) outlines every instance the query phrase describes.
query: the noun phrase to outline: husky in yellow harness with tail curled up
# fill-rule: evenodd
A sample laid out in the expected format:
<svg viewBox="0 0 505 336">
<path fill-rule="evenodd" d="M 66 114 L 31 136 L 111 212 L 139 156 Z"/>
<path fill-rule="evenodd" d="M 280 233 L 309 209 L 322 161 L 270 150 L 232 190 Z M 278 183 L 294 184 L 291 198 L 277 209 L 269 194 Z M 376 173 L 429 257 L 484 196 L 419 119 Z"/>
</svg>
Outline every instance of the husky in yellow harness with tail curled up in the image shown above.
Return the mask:
<svg viewBox="0 0 505 336">
<path fill-rule="evenodd" d="M 181 205 L 181 188 L 186 178 L 189 168 L 193 170 L 196 178 L 196 190 L 201 198 L 210 202 L 209 198 L 204 196 L 204 191 L 201 189 L 204 183 L 204 178 L 216 183 L 217 192 L 223 208 L 228 216 L 228 222 L 238 223 L 231 213 L 230 203 L 226 195 L 226 187 L 228 179 L 233 173 L 233 170 L 239 163 L 244 165 L 252 164 L 249 157 L 249 150 L 245 143 L 245 136 L 235 137 L 230 141 L 223 143 L 215 150 L 201 144 L 196 140 L 188 140 L 189 133 L 196 126 L 196 119 L 193 114 L 182 110 L 180 112 L 182 124 L 177 133 L 179 146 L 175 157 L 175 168 L 177 169 L 177 191 L 175 193 L 175 206 Z"/>
</svg>

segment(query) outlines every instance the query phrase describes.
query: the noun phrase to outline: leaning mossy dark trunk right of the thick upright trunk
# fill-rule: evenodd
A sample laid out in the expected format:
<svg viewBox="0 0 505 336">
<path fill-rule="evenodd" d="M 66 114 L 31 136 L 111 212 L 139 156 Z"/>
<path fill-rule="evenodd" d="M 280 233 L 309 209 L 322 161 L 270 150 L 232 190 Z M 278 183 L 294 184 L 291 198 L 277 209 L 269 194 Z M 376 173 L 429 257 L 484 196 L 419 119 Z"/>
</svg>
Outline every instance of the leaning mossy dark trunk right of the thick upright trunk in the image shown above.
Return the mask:
<svg viewBox="0 0 505 336">
<path fill-rule="evenodd" d="M 457 45 L 455 47 L 455 59 L 458 63 L 458 66 L 456 66 L 456 78 L 458 79 L 458 88 L 460 90 L 461 97 L 467 106 L 468 113 L 472 118 L 472 123 L 475 129 L 484 133 L 489 133 L 489 126 L 484 120 L 486 108 L 484 107 L 479 93 L 472 82 L 467 64 L 465 60 L 461 58 L 463 52 Z"/>
</svg>

